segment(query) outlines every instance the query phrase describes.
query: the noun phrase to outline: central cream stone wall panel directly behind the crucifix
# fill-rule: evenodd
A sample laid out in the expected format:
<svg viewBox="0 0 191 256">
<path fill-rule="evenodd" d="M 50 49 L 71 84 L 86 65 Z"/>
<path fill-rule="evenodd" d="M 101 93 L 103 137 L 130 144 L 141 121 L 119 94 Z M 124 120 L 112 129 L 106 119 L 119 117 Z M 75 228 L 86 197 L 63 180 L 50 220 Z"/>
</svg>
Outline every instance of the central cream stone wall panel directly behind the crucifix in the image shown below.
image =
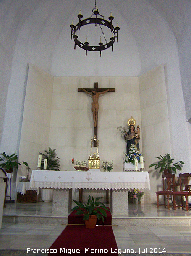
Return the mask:
<svg viewBox="0 0 191 256">
<path fill-rule="evenodd" d="M 93 137 L 91 96 L 78 88 L 115 88 L 99 97 L 98 139 L 100 160 L 114 160 L 123 170 L 126 143 L 117 132 L 133 116 L 141 124 L 137 77 L 57 77 L 54 79 L 49 145 L 57 149 L 62 170 L 73 170 L 71 159 L 88 159 Z"/>
</svg>

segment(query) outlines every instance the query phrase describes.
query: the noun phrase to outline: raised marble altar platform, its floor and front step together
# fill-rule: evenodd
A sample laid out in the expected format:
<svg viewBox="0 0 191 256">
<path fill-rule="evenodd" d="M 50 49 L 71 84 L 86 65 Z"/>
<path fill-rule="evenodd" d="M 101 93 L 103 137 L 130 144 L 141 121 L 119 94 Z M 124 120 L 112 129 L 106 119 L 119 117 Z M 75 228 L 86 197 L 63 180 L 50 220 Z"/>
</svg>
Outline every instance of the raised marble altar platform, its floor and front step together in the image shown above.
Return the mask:
<svg viewBox="0 0 191 256">
<path fill-rule="evenodd" d="M 74 207 L 75 204 L 72 205 Z M 110 207 L 110 205 L 106 205 Z M 37 223 L 67 225 L 68 215 L 53 214 L 52 203 L 6 203 L 3 223 Z M 191 210 L 168 210 L 156 204 L 129 204 L 129 215 L 112 215 L 112 225 L 118 226 L 191 226 Z"/>
</svg>

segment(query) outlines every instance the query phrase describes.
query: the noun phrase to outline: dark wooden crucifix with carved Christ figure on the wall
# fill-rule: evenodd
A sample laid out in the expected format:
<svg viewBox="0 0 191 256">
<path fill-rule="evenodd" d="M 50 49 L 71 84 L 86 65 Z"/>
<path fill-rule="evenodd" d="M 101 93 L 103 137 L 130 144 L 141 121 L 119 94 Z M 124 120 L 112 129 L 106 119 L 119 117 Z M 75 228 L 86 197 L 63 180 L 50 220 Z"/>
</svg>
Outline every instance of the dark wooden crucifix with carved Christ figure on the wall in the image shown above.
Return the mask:
<svg viewBox="0 0 191 256">
<path fill-rule="evenodd" d="M 92 112 L 94 118 L 94 147 L 97 146 L 97 117 L 98 117 L 98 98 L 100 94 L 104 94 L 106 92 L 115 92 L 115 88 L 98 88 L 98 83 L 94 83 L 94 88 L 78 88 L 78 92 L 86 92 L 87 94 L 92 96 Z"/>
</svg>

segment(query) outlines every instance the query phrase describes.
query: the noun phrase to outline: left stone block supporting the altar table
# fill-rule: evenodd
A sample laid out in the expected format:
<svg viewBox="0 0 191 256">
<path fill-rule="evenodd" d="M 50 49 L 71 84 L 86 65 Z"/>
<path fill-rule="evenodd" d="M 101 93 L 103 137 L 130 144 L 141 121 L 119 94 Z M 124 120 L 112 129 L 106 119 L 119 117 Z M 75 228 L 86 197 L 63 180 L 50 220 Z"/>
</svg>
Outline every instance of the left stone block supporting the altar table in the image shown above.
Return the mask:
<svg viewBox="0 0 191 256">
<path fill-rule="evenodd" d="M 66 213 L 71 211 L 72 188 L 53 190 L 52 213 Z"/>
</svg>

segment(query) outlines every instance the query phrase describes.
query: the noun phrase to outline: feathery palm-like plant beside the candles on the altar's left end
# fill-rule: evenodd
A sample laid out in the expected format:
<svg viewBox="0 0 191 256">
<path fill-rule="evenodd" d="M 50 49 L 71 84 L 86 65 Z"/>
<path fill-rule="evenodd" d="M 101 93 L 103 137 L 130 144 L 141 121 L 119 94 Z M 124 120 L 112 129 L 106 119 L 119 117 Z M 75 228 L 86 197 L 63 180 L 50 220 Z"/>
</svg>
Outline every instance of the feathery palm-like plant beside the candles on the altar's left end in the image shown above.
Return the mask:
<svg viewBox="0 0 191 256">
<path fill-rule="evenodd" d="M 42 164 L 41 168 L 43 169 L 44 165 L 44 159 L 47 159 L 47 170 L 52 170 L 52 171 L 60 171 L 60 163 L 59 163 L 59 157 L 57 157 L 56 154 L 56 149 L 51 149 L 49 147 L 49 150 L 44 150 L 45 154 L 40 153 L 42 155 Z"/>
</svg>

